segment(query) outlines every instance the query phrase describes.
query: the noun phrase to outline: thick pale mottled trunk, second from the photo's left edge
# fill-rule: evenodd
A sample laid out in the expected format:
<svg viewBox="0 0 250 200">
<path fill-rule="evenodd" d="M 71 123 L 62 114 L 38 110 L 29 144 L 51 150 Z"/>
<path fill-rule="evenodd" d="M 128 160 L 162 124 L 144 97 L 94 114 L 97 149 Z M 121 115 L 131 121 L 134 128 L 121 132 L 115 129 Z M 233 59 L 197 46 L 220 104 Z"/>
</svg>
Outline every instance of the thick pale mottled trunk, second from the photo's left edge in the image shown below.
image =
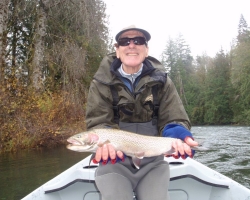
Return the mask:
<svg viewBox="0 0 250 200">
<path fill-rule="evenodd" d="M 36 33 L 34 38 L 34 57 L 32 61 L 32 74 L 31 74 L 31 85 L 36 91 L 40 91 L 44 88 L 43 84 L 43 68 L 45 65 L 44 59 L 44 37 L 46 34 L 46 7 L 49 0 L 40 0 L 37 9 L 38 20 L 36 23 Z"/>
</svg>

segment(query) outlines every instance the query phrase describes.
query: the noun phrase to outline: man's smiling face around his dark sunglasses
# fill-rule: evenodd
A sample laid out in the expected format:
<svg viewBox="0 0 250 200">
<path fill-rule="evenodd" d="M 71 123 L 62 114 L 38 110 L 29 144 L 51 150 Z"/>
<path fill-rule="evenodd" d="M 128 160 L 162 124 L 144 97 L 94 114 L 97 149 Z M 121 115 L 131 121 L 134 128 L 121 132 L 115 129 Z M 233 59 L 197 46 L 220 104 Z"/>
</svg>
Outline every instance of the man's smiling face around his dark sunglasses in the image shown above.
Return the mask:
<svg viewBox="0 0 250 200">
<path fill-rule="evenodd" d="M 135 30 L 127 31 L 123 33 L 119 38 L 134 38 L 144 37 L 144 35 Z M 120 58 L 123 63 L 123 67 L 138 68 L 141 63 L 148 56 L 148 47 L 144 45 L 135 45 L 131 40 L 128 46 L 119 46 L 116 48 L 116 56 Z"/>
</svg>

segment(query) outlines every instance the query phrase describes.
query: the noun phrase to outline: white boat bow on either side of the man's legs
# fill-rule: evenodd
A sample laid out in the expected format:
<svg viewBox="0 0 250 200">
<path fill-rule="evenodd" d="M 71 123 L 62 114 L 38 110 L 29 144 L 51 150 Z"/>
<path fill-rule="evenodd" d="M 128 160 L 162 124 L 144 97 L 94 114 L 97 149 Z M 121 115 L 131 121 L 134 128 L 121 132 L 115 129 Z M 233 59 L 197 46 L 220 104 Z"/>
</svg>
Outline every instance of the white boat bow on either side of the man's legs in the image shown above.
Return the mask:
<svg viewBox="0 0 250 200">
<path fill-rule="evenodd" d="M 171 200 L 250 200 L 250 190 L 232 179 L 187 158 L 165 158 L 170 165 Z M 98 165 L 90 156 L 40 186 L 23 200 L 101 200 L 95 186 Z M 136 198 L 135 198 L 136 199 Z"/>
</svg>

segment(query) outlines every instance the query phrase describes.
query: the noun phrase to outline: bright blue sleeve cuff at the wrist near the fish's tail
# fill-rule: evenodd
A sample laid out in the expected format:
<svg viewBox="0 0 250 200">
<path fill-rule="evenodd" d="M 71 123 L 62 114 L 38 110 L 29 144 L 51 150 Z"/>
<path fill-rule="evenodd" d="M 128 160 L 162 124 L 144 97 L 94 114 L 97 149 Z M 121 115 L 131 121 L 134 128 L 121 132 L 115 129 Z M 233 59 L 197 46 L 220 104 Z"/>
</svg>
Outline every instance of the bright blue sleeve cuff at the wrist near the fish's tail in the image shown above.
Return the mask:
<svg viewBox="0 0 250 200">
<path fill-rule="evenodd" d="M 184 141 L 186 137 L 193 138 L 192 133 L 184 128 L 182 125 L 179 124 L 168 124 L 165 126 L 163 132 L 163 137 L 172 137 L 172 138 L 178 138 Z"/>
</svg>

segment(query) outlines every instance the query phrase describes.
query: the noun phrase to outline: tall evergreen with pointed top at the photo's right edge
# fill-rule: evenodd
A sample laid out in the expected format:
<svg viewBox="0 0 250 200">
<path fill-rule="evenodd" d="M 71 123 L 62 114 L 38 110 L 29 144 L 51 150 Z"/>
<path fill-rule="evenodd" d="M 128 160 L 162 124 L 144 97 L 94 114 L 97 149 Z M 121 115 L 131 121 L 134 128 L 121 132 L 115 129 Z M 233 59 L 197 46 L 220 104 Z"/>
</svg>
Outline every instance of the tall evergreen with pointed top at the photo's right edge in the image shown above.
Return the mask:
<svg viewBox="0 0 250 200">
<path fill-rule="evenodd" d="M 237 44 L 231 54 L 234 122 L 248 124 L 250 121 L 250 31 L 243 16 L 239 23 Z"/>
</svg>

